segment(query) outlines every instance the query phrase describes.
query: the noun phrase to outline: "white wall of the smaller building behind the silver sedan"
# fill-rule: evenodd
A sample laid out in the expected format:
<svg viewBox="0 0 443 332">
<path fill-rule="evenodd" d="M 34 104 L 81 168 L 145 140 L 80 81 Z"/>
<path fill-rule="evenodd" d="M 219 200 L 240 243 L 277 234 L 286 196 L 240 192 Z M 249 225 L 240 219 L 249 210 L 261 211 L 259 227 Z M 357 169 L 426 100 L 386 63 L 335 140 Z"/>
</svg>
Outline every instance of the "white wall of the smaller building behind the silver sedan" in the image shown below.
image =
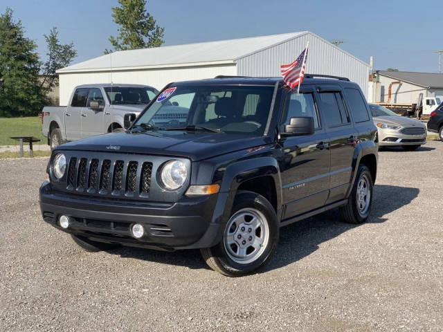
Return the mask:
<svg viewBox="0 0 443 332">
<path fill-rule="evenodd" d="M 389 84 L 398 80 L 380 75 L 379 91 L 377 91 L 376 102 L 388 102 Z M 391 89 L 390 102 L 397 104 L 412 104 L 417 102 L 418 96 L 423 93 L 426 97 L 426 88 L 415 84 L 402 82 L 401 85 L 394 84 Z"/>
</svg>

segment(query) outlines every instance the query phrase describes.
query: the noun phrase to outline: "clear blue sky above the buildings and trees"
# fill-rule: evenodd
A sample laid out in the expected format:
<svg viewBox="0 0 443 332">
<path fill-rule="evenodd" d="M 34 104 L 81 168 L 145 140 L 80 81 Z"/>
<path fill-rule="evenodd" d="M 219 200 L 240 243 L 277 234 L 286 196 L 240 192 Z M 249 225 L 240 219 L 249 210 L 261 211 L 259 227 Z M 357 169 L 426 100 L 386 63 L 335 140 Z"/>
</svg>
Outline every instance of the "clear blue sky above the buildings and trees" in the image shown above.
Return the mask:
<svg viewBox="0 0 443 332">
<path fill-rule="evenodd" d="M 115 0 L 0 0 L 0 12 L 12 8 L 26 36 L 35 39 L 44 58 L 44 33 L 53 26 L 60 40 L 73 41 L 75 62 L 103 54 L 117 34 L 111 7 Z M 273 35 L 310 30 L 374 67 L 437 72 L 443 49 L 443 1 L 148 1 L 147 10 L 165 28 L 165 45 Z"/>
</svg>

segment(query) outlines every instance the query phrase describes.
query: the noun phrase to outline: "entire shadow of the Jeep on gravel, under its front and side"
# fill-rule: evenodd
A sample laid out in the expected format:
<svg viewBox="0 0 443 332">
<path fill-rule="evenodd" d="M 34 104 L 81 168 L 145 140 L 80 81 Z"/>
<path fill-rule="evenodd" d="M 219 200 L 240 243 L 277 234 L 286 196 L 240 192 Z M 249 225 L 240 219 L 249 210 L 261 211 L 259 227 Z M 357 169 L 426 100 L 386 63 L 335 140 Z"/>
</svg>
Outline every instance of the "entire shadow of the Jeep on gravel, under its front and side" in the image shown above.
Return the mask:
<svg viewBox="0 0 443 332">
<path fill-rule="evenodd" d="M 395 185 L 375 185 L 372 212 L 368 223 L 383 223 L 385 214 L 393 212 L 404 205 L 408 205 L 419 190 L 412 187 L 397 187 Z M 266 270 L 273 270 L 287 266 L 302 259 L 317 250 L 318 245 L 338 235 L 359 227 L 343 223 L 338 210 L 331 210 L 318 216 L 311 217 L 280 229 L 280 243 L 277 251 Z M 358 241 L 358 239 L 356 239 Z M 199 250 L 178 250 L 175 252 L 163 252 L 150 249 L 121 247 L 109 250 L 112 255 L 120 255 L 123 258 L 143 259 L 156 263 L 186 266 L 192 269 L 205 268 L 206 263 L 201 258 Z"/>
</svg>

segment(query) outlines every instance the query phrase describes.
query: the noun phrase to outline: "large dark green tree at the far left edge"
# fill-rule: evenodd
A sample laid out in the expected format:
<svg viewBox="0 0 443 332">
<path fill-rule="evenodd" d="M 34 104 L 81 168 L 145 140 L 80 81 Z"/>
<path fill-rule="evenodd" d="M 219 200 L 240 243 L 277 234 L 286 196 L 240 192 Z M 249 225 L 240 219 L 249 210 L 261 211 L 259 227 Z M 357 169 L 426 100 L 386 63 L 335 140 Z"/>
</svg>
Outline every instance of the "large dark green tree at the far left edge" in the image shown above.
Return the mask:
<svg viewBox="0 0 443 332">
<path fill-rule="evenodd" d="M 36 115 L 44 104 L 37 46 L 12 13 L 6 8 L 0 15 L 0 116 Z"/>
</svg>

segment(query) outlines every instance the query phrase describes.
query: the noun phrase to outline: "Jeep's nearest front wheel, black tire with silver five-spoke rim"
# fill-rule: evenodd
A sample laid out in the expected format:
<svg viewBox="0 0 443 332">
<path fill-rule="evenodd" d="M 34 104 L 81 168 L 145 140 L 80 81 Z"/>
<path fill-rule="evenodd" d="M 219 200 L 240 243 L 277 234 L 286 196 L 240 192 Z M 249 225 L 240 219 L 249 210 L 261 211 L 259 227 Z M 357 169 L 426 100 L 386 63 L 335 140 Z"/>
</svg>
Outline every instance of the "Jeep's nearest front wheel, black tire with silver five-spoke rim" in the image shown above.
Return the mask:
<svg viewBox="0 0 443 332">
<path fill-rule="evenodd" d="M 271 203 L 255 192 L 240 191 L 223 239 L 213 248 L 201 249 L 201 255 L 210 268 L 222 275 L 247 275 L 269 263 L 279 232 Z"/>
</svg>

